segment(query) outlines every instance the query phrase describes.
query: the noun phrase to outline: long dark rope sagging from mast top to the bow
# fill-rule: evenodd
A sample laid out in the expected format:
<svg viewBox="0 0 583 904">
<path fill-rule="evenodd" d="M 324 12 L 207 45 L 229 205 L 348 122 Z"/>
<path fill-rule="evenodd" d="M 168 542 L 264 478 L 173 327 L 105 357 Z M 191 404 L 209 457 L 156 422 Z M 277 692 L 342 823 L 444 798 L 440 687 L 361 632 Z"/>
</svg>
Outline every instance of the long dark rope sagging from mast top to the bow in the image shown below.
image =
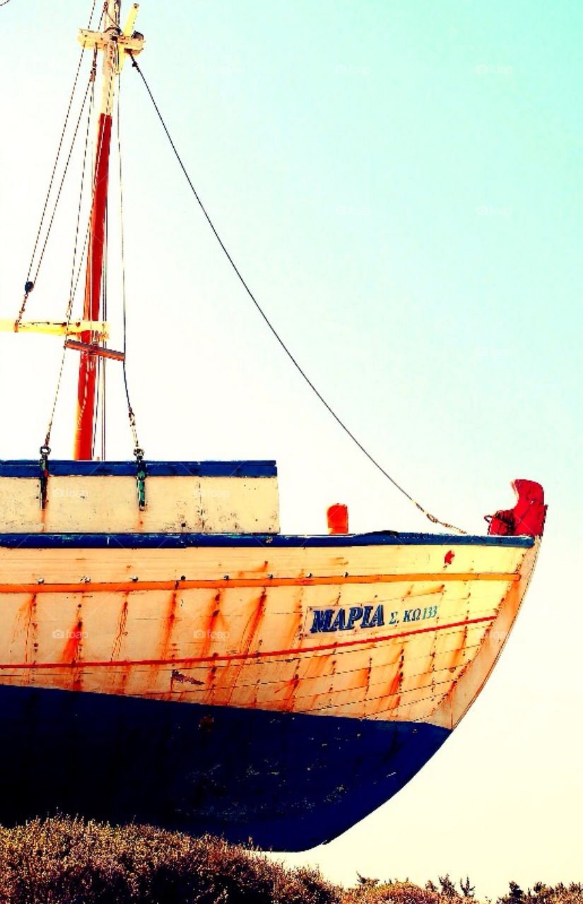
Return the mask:
<svg viewBox="0 0 583 904">
<path fill-rule="evenodd" d="M 439 518 L 436 517 L 436 515 L 431 514 L 430 512 L 428 512 L 428 510 L 425 509 L 420 503 L 418 503 L 418 501 L 417 501 L 416 499 L 414 499 L 413 496 L 410 495 L 410 494 L 407 492 L 406 489 L 404 489 L 404 487 L 402 487 L 399 483 L 397 483 L 397 481 L 396 481 L 393 477 L 390 476 L 390 474 L 388 473 L 388 471 L 386 471 L 386 470 L 384 469 L 384 467 L 381 466 L 381 464 L 376 460 L 376 458 L 374 458 L 374 457 L 371 456 L 371 453 L 368 451 L 368 449 L 366 449 L 366 448 L 362 445 L 362 442 L 361 442 L 358 438 L 356 438 L 356 437 L 354 436 L 354 434 L 353 434 L 353 432 L 350 430 L 350 428 L 348 428 L 348 427 L 346 426 L 346 424 L 343 422 L 343 420 L 339 417 L 339 415 L 336 414 L 336 412 L 334 411 L 334 409 L 333 409 L 333 408 L 328 404 L 328 402 L 324 399 L 324 396 L 322 395 L 322 393 L 316 389 L 314 383 L 313 383 L 313 382 L 310 380 L 310 378 L 307 376 L 306 372 L 303 370 L 303 368 L 301 367 L 301 365 L 296 361 L 296 358 L 295 358 L 294 355 L 289 351 L 289 349 L 287 348 L 287 345 L 284 343 L 284 341 L 283 341 L 283 339 L 281 338 L 281 336 L 277 333 L 277 330 L 276 330 L 275 326 L 271 324 L 271 321 L 268 319 L 268 315 L 265 313 L 265 311 L 263 310 L 263 308 L 259 305 L 259 301 L 258 301 L 257 298 L 253 295 L 251 289 L 249 288 L 249 286 L 248 286 L 247 283 L 245 282 L 245 279 L 242 277 L 239 268 L 238 268 L 237 265 L 235 264 L 235 261 L 234 261 L 234 260 L 232 259 L 232 257 L 230 256 L 229 250 L 227 250 L 227 248 L 226 248 L 224 242 L 223 242 L 222 239 L 221 239 L 221 236 L 219 235 L 218 231 L 216 230 L 216 228 L 215 228 L 215 226 L 214 226 L 214 223 L 213 223 L 212 220 L 211 220 L 211 217 L 209 216 L 208 212 L 206 211 L 206 209 L 205 209 L 205 207 L 204 207 L 204 205 L 203 205 L 203 203 L 202 203 L 202 200 L 201 200 L 199 194 L 197 193 L 196 189 L 194 188 L 194 185 L 193 185 L 193 182 L 192 182 L 192 180 L 191 180 L 191 177 L 190 177 L 190 175 L 188 174 L 188 172 L 187 172 L 187 170 L 186 170 L 186 167 L 185 167 L 184 164 L 183 164 L 183 161 L 182 161 L 181 156 L 179 155 L 179 153 L 178 153 L 178 151 L 177 151 L 177 149 L 176 149 L 176 146 L 174 145 L 174 141 L 173 141 L 173 139 L 172 139 L 172 137 L 171 137 L 171 135 L 170 135 L 170 132 L 168 131 L 168 127 L 166 127 L 165 120 L 164 120 L 164 118 L 163 118 L 163 116 L 162 116 L 162 114 L 161 114 L 161 112 L 160 112 L 160 109 L 158 108 L 158 105 L 157 105 L 156 102 L 155 102 L 154 95 L 152 94 L 152 91 L 150 90 L 150 87 L 149 87 L 149 85 L 148 85 L 148 83 L 147 83 L 147 81 L 146 81 L 146 77 L 144 76 L 144 73 L 142 72 L 142 70 L 140 69 L 140 67 L 137 65 L 136 59 L 135 59 L 134 55 L 132 54 L 132 52 L 130 52 L 130 51 L 127 51 L 127 52 L 129 53 L 129 56 L 131 57 L 132 65 L 133 65 L 134 69 L 137 70 L 137 72 L 138 72 L 140 78 L 141 78 L 142 81 L 144 82 L 144 85 L 145 85 L 145 87 L 146 87 L 146 91 L 147 91 L 147 93 L 148 93 L 148 95 L 149 95 L 149 97 L 150 97 L 150 99 L 151 99 L 151 101 L 152 101 L 152 103 L 153 103 L 153 105 L 154 105 L 155 112 L 156 112 L 156 114 L 157 114 L 157 116 L 158 116 L 158 119 L 160 120 L 160 123 L 162 124 L 162 127 L 163 127 L 164 130 L 165 130 L 166 137 L 168 138 L 168 141 L 170 142 L 170 146 L 172 147 L 172 149 L 173 149 L 173 151 L 174 151 L 174 156 L 176 157 L 176 160 L 178 161 L 178 164 L 180 165 L 180 168 L 181 168 L 182 171 L 183 171 L 183 174 L 184 174 L 184 176 L 185 176 L 185 178 L 186 178 L 186 181 L 187 181 L 187 183 L 189 184 L 189 186 L 190 186 L 190 188 L 191 188 L 191 191 L 192 191 L 192 193 L 193 193 L 193 195 L 194 195 L 196 201 L 198 202 L 198 205 L 199 205 L 199 207 L 201 208 L 202 213 L 203 213 L 203 215 L 204 215 L 206 221 L 208 222 L 209 226 L 210 226 L 211 229 L 212 229 L 212 232 L 214 233 L 215 239 L 216 239 L 216 240 L 219 242 L 219 244 L 221 245 L 221 249 L 224 251 L 224 253 L 225 253 L 227 259 L 229 260 L 230 266 L 233 268 L 233 270 L 234 270 L 235 273 L 237 274 L 237 276 L 238 276 L 238 278 L 239 278 L 239 280 L 240 280 L 241 286 L 242 286 L 242 287 L 245 289 L 245 291 L 247 292 L 249 298 L 251 299 L 251 301 L 253 302 L 253 304 L 255 305 L 255 307 L 257 308 L 257 310 L 259 311 L 259 315 L 261 315 L 261 317 L 263 318 L 263 320 L 265 321 L 265 323 L 268 325 L 269 330 L 270 330 L 271 333 L 275 336 L 275 338 L 277 339 L 277 342 L 281 345 L 282 349 L 283 349 L 284 352 L 287 354 L 287 357 L 289 358 L 289 360 L 291 361 L 291 363 L 296 367 L 296 370 L 297 370 L 297 371 L 301 374 L 301 376 L 304 378 L 304 380 L 306 381 L 306 383 L 307 383 L 307 385 L 310 387 L 310 389 L 311 389 L 312 391 L 315 392 L 315 395 L 316 395 L 316 396 L 318 397 L 318 399 L 322 402 L 322 404 L 324 405 L 324 408 L 332 415 L 332 417 L 334 418 L 334 420 L 336 421 L 336 423 L 343 429 L 344 433 L 345 433 L 348 437 L 350 437 L 350 438 L 353 440 L 353 443 L 354 443 L 357 447 L 360 448 L 360 450 L 362 451 L 362 453 L 369 459 L 369 461 L 371 462 L 371 464 L 374 465 L 374 466 L 381 472 L 381 474 L 382 474 L 383 476 L 385 476 L 385 477 L 387 478 L 387 480 L 389 480 L 390 483 L 391 483 L 394 487 L 396 487 L 396 489 L 398 489 L 398 490 L 400 491 L 400 493 L 402 493 L 404 496 L 406 496 L 407 499 L 409 499 L 409 502 L 411 502 L 412 504 L 414 504 L 414 505 L 418 508 L 419 512 L 422 512 L 422 513 L 429 519 L 429 521 L 432 522 L 432 523 L 434 523 L 434 524 L 441 524 L 442 527 L 446 527 L 446 528 L 447 528 L 448 530 L 450 530 L 450 531 L 456 531 L 456 532 L 458 532 L 458 533 L 466 533 L 464 530 L 462 530 L 462 528 L 456 527 L 455 524 L 450 524 L 450 523 L 447 523 L 446 521 L 441 521 Z"/>
</svg>

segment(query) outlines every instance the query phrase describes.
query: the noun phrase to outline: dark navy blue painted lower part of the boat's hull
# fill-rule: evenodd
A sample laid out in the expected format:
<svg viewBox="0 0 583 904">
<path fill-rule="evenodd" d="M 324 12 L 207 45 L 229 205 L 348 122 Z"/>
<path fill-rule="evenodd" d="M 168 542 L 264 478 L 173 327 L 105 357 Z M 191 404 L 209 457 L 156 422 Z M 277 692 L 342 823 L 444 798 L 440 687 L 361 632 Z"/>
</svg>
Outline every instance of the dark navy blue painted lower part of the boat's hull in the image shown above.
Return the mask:
<svg viewBox="0 0 583 904">
<path fill-rule="evenodd" d="M 0 686 L 0 820 L 80 814 L 301 851 L 397 793 L 450 733 Z"/>
</svg>

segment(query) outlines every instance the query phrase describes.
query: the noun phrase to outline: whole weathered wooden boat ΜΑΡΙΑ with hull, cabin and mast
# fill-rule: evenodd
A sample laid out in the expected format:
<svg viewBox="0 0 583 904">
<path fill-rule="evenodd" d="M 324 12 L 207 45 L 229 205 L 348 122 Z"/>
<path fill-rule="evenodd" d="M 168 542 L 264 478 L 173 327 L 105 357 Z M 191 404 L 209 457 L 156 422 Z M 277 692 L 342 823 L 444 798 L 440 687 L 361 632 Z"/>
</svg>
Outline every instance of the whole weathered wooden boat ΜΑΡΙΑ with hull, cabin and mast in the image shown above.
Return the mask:
<svg viewBox="0 0 583 904">
<path fill-rule="evenodd" d="M 0 462 L 0 818 L 79 813 L 277 850 L 404 786 L 491 673 L 546 506 L 517 480 L 487 534 L 280 532 L 273 461 L 97 460 L 114 84 L 144 39 L 108 0 L 82 316 L 4 322 L 80 354 L 71 460 Z M 32 291 L 27 281 L 25 297 Z M 64 353 L 64 351 L 63 351 Z M 130 423 L 134 428 L 129 406 Z"/>
</svg>

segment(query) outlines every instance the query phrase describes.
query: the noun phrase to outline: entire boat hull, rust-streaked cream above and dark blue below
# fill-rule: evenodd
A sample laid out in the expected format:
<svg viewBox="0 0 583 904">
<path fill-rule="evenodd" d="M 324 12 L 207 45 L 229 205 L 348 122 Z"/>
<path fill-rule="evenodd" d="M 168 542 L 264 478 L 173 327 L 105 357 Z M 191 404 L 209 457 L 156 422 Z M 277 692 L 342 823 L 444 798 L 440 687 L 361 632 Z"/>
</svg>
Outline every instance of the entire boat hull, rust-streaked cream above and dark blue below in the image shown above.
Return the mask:
<svg viewBox="0 0 583 904">
<path fill-rule="evenodd" d="M 5 534 L 3 819 L 330 840 L 475 700 L 539 542 Z"/>
</svg>

